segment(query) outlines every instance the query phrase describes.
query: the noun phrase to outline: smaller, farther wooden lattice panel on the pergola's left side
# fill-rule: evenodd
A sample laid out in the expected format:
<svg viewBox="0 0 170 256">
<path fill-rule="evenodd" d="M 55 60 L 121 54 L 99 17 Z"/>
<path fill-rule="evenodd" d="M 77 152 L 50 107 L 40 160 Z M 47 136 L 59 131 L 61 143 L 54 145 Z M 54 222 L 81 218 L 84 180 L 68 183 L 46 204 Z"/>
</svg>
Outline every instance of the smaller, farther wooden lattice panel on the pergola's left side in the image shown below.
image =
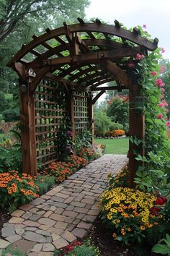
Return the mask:
<svg viewBox="0 0 170 256">
<path fill-rule="evenodd" d="M 74 122 L 77 134 L 89 129 L 88 94 L 73 91 Z"/>
</svg>

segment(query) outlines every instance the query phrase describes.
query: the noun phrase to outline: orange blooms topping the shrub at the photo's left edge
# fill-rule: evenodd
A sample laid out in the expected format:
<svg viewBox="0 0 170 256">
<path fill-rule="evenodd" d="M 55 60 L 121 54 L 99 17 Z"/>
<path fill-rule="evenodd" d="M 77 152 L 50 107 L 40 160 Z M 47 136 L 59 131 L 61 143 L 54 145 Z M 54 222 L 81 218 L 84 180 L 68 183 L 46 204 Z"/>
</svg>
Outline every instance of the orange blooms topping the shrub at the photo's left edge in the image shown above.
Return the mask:
<svg viewBox="0 0 170 256">
<path fill-rule="evenodd" d="M 20 174 L 18 171 L 8 171 L 0 174 L 0 191 L 5 189 L 9 195 L 19 194 L 32 195 L 39 197 L 36 194 L 38 187 L 35 186 L 35 179 L 27 174 Z"/>
</svg>

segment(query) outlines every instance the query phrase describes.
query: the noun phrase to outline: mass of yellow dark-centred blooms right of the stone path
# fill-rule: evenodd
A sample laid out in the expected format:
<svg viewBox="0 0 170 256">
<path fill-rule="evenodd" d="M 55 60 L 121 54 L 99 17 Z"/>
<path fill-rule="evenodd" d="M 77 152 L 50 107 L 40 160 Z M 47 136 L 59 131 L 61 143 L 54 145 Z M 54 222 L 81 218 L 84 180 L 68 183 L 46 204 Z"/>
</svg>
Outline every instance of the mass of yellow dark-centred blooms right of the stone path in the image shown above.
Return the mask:
<svg viewBox="0 0 170 256">
<path fill-rule="evenodd" d="M 133 231 L 133 223 L 137 224 L 141 231 L 157 225 L 157 216 L 151 215 L 156 197 L 136 189 L 128 187 L 116 187 L 105 190 L 102 193 L 102 213 L 113 225 L 120 226 L 120 233 Z M 116 237 L 116 234 L 113 234 Z"/>
</svg>

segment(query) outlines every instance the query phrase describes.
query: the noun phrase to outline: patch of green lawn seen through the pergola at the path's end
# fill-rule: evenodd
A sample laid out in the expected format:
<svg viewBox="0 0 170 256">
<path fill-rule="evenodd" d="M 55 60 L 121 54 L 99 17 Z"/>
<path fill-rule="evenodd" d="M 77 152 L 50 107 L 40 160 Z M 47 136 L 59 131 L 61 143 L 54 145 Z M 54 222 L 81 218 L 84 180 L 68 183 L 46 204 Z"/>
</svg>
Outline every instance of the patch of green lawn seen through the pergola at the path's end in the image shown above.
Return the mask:
<svg viewBox="0 0 170 256">
<path fill-rule="evenodd" d="M 105 154 L 124 154 L 129 150 L 129 138 L 120 139 L 94 139 L 98 144 L 106 145 Z"/>
</svg>

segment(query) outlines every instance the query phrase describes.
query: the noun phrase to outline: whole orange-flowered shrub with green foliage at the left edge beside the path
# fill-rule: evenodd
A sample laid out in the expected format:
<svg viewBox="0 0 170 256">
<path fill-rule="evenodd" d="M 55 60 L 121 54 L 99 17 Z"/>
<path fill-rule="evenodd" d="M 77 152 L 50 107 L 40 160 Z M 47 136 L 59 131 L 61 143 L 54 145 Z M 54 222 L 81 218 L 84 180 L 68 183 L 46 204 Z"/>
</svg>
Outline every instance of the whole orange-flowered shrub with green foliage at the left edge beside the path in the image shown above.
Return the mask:
<svg viewBox="0 0 170 256">
<path fill-rule="evenodd" d="M 0 174 L 0 206 L 9 208 L 12 212 L 19 205 L 30 202 L 37 195 L 38 187 L 35 178 L 18 171 L 9 171 Z"/>
</svg>

